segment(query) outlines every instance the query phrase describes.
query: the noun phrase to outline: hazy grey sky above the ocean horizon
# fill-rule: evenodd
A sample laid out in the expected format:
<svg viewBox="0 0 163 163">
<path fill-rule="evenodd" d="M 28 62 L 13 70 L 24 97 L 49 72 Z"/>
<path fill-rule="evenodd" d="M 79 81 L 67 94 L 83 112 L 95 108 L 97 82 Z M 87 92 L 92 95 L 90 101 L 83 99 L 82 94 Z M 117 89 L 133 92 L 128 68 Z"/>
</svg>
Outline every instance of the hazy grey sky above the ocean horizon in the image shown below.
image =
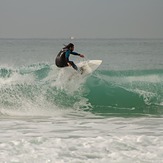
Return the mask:
<svg viewBox="0 0 163 163">
<path fill-rule="evenodd" d="M 163 0 L 0 0 L 0 38 L 163 38 Z"/>
</svg>

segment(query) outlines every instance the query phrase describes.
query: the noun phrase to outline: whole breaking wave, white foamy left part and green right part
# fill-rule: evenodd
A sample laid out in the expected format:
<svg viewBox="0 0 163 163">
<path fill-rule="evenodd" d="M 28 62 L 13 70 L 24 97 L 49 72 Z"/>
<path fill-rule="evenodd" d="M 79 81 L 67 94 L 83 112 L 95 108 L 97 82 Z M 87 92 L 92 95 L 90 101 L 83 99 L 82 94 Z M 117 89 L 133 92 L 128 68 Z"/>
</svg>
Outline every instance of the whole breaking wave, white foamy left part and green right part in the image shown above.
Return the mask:
<svg viewBox="0 0 163 163">
<path fill-rule="evenodd" d="M 163 114 L 163 70 L 99 70 L 71 79 L 67 74 L 48 63 L 0 68 L 0 113 Z"/>
</svg>

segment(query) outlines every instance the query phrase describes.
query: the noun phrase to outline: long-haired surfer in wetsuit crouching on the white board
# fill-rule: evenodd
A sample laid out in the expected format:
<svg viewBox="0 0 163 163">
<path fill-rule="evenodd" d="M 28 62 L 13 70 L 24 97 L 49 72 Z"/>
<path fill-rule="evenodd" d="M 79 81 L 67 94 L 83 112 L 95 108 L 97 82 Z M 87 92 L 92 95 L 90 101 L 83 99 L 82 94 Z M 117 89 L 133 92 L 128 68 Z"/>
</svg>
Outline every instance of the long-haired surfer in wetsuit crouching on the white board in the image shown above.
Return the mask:
<svg viewBox="0 0 163 163">
<path fill-rule="evenodd" d="M 55 64 L 57 67 L 72 66 L 76 71 L 78 71 L 78 67 L 75 63 L 73 61 L 69 61 L 70 54 L 84 58 L 84 55 L 74 52 L 74 44 L 69 43 L 58 53 L 55 59 Z"/>
</svg>

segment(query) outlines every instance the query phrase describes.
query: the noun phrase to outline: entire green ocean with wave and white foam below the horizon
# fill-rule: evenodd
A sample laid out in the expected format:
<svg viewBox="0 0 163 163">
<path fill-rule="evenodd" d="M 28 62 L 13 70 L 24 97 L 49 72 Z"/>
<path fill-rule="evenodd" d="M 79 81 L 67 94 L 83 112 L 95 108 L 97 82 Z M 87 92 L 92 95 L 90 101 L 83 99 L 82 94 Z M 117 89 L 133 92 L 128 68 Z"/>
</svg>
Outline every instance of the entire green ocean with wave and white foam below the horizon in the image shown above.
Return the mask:
<svg viewBox="0 0 163 163">
<path fill-rule="evenodd" d="M 0 163 L 131 162 L 163 163 L 163 39 L 0 39 Z"/>
</svg>

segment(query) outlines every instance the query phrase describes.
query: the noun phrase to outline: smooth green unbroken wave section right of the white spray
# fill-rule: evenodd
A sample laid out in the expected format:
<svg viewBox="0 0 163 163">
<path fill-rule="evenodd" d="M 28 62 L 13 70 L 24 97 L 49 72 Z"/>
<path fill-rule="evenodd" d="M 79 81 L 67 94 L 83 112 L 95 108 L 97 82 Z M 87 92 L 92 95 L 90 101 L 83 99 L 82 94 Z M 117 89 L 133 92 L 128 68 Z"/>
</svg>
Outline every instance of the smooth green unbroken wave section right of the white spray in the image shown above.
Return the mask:
<svg viewBox="0 0 163 163">
<path fill-rule="evenodd" d="M 162 114 L 163 70 L 99 71 L 87 98 L 99 113 Z"/>
</svg>

